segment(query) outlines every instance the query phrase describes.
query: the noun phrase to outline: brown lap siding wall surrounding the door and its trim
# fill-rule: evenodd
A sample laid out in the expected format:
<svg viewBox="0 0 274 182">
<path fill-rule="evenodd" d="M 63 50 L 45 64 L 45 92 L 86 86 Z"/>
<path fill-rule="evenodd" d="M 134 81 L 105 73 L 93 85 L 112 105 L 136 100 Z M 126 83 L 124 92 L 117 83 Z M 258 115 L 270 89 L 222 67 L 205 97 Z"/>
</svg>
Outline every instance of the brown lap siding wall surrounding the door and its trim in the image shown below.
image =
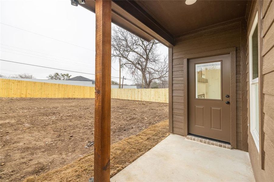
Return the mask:
<svg viewBox="0 0 274 182">
<path fill-rule="evenodd" d="M 184 59 L 188 58 L 191 54 L 198 54 L 202 52 L 215 51 L 219 49 L 227 49 L 231 47 L 236 47 L 236 120 L 237 120 L 237 148 L 243 148 L 243 137 L 247 143 L 247 130 L 243 130 L 242 125 L 245 124 L 247 128 L 247 117 L 246 117 L 246 59 L 245 51 L 241 52 L 242 46 L 246 48 L 246 39 L 241 41 L 241 36 L 244 33 L 246 35 L 246 30 L 244 31 L 241 26 L 245 23 L 242 19 L 236 19 L 229 22 L 223 22 L 220 25 L 215 25 L 216 29 L 209 27 L 203 29 L 202 32 L 199 30 L 193 31 L 184 37 L 175 40 L 175 46 L 172 48 L 172 121 L 173 121 L 173 133 L 186 135 L 186 123 L 184 121 Z M 191 56 L 190 56 L 191 57 Z M 186 68 L 185 68 L 186 69 Z M 244 72 L 242 72 L 242 70 Z M 244 80 L 244 84 L 242 84 Z M 244 100 L 244 102 L 242 101 Z M 243 104 L 245 111 L 242 112 Z M 245 116 L 242 116 L 242 113 Z M 175 124 L 176 123 L 176 124 Z M 245 135 L 242 134 L 245 131 Z M 247 146 L 247 144 L 245 144 Z M 247 147 L 245 148 L 247 150 Z"/>
</svg>

